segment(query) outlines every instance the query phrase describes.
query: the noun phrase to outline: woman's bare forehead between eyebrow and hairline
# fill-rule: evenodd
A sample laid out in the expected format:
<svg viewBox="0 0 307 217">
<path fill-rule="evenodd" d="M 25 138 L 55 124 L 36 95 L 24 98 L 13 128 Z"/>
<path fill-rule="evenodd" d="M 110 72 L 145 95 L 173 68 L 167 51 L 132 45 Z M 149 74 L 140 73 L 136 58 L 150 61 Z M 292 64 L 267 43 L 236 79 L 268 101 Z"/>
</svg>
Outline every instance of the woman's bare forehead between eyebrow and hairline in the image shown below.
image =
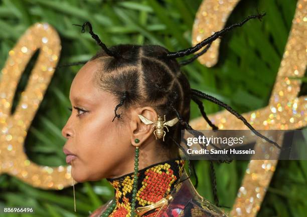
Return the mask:
<svg viewBox="0 0 307 217">
<path fill-rule="evenodd" d="M 99 69 L 96 61 L 87 62 L 75 76 L 69 92 L 71 102 L 92 101 L 99 94 L 99 89 L 94 82 L 95 73 Z"/>
</svg>

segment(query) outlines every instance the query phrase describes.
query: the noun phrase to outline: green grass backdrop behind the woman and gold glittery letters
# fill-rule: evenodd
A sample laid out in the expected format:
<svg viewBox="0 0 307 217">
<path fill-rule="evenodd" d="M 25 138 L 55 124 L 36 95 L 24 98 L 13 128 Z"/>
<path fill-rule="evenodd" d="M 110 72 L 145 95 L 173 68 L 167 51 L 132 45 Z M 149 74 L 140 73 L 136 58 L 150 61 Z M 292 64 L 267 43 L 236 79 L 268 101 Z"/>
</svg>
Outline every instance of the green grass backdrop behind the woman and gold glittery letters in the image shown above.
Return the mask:
<svg viewBox="0 0 307 217">
<path fill-rule="evenodd" d="M 157 44 L 178 51 L 191 47 L 192 26 L 202 0 L 0 0 L 0 69 L 8 52 L 32 24 L 47 22 L 60 34 L 62 51 L 59 64 L 88 60 L 100 47 L 80 27 L 90 21 L 94 32 L 107 45 Z M 192 88 L 211 94 L 231 105 L 240 113 L 264 107 L 268 103 L 281 61 L 295 0 L 242 0 L 227 25 L 239 22 L 259 11 L 266 11 L 263 21 L 252 20 L 225 35 L 220 46 L 219 62 L 206 68 L 198 61 L 182 68 Z M 174 29 L 176 27 L 176 29 Z M 33 56 L 20 81 L 15 104 L 24 89 L 37 54 Z M 56 70 L 26 139 L 26 153 L 39 164 L 65 165 L 62 147 L 65 139 L 61 129 L 70 111 L 68 99 L 72 79 L 80 66 Z M 306 79 L 304 78 L 304 81 Z M 306 94 L 303 83 L 300 95 Z M 204 102 L 206 112 L 220 111 L 218 106 Z M 191 118 L 200 116 L 191 103 Z M 306 132 L 306 130 L 304 130 Z M 307 133 L 304 133 L 307 137 Z M 0 162 L 1 163 L 1 162 Z M 244 175 L 247 161 L 215 165 L 220 203 L 232 206 Z M 207 161 L 196 163 L 199 175 L 197 190 L 213 201 Z M 268 192 L 257 216 L 295 216 L 307 213 L 307 162 L 279 161 Z M 192 178 L 194 181 L 194 178 Z M 87 216 L 112 195 L 106 180 L 78 183 L 77 213 L 73 211 L 73 189 L 42 190 L 23 183 L 7 174 L 0 175 L 0 207 L 32 206 L 35 214 L 5 216 L 72 217 Z M 229 209 L 225 209 L 229 211 Z M 0 214 L 1 215 L 1 214 Z"/>
</svg>

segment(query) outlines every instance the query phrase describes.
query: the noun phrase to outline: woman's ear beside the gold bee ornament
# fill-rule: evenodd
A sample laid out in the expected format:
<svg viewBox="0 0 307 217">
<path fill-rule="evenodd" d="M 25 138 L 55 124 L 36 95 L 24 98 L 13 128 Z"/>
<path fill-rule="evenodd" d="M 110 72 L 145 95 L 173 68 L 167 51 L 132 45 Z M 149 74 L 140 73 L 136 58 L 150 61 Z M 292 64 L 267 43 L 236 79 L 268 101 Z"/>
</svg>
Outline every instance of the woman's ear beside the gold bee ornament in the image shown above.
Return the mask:
<svg viewBox="0 0 307 217">
<path fill-rule="evenodd" d="M 152 122 L 156 122 L 158 120 L 157 112 L 150 106 L 131 110 L 129 130 L 131 135 L 131 144 L 134 146 L 140 146 L 154 132 L 155 126 L 154 124 L 144 124 L 139 119 L 138 115 L 142 115 Z M 135 139 L 139 139 L 139 142 L 135 143 Z"/>
</svg>

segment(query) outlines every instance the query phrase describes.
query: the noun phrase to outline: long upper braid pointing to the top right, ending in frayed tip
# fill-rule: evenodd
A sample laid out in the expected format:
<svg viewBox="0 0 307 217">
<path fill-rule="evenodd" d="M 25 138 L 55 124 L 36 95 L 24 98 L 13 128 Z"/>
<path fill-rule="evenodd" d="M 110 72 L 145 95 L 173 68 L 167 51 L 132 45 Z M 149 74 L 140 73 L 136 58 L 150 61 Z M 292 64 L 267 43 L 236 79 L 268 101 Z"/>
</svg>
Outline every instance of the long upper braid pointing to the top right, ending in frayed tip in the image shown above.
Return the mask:
<svg viewBox="0 0 307 217">
<path fill-rule="evenodd" d="M 231 29 L 234 29 L 236 27 L 241 27 L 243 24 L 245 24 L 250 19 L 255 19 L 256 18 L 256 19 L 259 19 L 261 21 L 262 17 L 265 16 L 265 14 L 266 13 L 263 13 L 263 14 L 259 14 L 258 13 L 258 15 L 248 16 L 243 21 L 241 21 L 239 23 L 235 23 L 235 24 L 233 24 L 233 25 L 231 25 L 229 27 L 226 27 L 225 29 L 223 29 L 221 31 L 218 31 L 218 32 L 214 33 L 212 36 L 210 36 L 207 39 L 203 40 L 202 42 L 198 43 L 194 47 L 187 48 L 187 49 L 184 49 L 184 50 L 181 50 L 181 51 L 177 51 L 177 52 L 170 52 L 170 53 L 168 53 L 167 54 L 167 58 L 178 58 L 178 57 L 184 57 L 184 56 L 193 54 L 193 53 L 197 52 L 198 50 L 200 50 L 205 45 L 207 45 L 209 43 L 212 43 L 214 40 L 216 40 L 220 36 L 224 35 L 228 31 L 230 31 Z"/>
</svg>

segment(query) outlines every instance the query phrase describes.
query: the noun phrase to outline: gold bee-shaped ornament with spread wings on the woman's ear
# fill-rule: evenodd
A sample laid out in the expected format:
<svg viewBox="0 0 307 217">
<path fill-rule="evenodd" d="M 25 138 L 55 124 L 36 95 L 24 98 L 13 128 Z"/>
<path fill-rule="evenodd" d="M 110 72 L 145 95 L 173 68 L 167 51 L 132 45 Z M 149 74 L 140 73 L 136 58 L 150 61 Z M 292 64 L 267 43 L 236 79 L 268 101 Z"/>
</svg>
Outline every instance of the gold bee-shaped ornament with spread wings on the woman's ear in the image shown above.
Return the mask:
<svg viewBox="0 0 307 217">
<path fill-rule="evenodd" d="M 144 116 L 142 115 L 138 115 L 139 119 L 144 123 L 144 124 L 154 124 L 154 126 L 152 126 L 152 128 L 156 127 L 156 130 L 154 131 L 154 134 L 156 136 L 156 139 L 161 139 L 163 137 L 163 141 L 164 141 L 164 137 L 165 137 L 165 130 L 164 130 L 164 127 L 167 128 L 168 132 L 169 132 L 169 128 L 167 126 L 173 126 L 175 125 L 177 122 L 178 122 L 178 118 L 174 118 L 170 121 L 167 121 L 165 120 L 165 115 L 164 115 L 164 120 L 162 117 L 160 117 L 158 115 L 158 120 L 157 122 L 156 121 L 151 121 L 151 120 L 148 120 L 147 118 L 145 118 Z"/>
</svg>

